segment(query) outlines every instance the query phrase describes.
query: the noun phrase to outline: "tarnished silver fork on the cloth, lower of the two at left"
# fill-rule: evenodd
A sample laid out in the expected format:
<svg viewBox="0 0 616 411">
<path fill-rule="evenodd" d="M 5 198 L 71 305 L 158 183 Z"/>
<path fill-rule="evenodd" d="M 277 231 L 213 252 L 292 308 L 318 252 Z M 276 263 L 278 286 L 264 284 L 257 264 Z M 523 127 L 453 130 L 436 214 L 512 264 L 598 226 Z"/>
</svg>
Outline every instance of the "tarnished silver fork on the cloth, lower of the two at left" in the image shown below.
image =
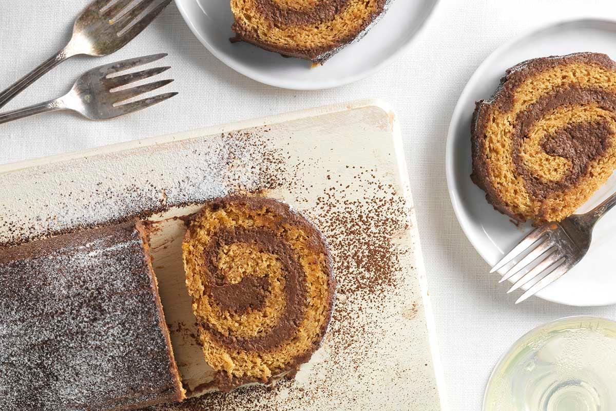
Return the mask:
<svg viewBox="0 0 616 411">
<path fill-rule="evenodd" d="M 165 56 L 166 54 L 153 54 L 93 68 L 92 70 L 86 71 L 86 73 L 76 81 L 71 91 L 65 96 L 41 104 L 31 105 L 30 107 L 20 110 L 0 113 L 0 124 L 17 120 L 18 118 L 46 112 L 55 112 L 58 110 L 72 110 L 91 120 L 107 120 L 108 118 L 136 112 L 137 110 L 142 110 L 156 103 L 160 103 L 161 101 L 176 96 L 177 93 L 160 94 L 158 96 L 120 105 L 121 102 L 137 97 L 140 94 L 166 86 L 166 84 L 171 83 L 173 80 L 160 80 L 129 89 L 116 89 L 134 83 L 135 81 L 158 75 L 168 70 L 170 67 L 149 68 L 148 70 L 113 77 L 110 77 L 110 75 L 118 73 L 118 71 L 128 70 L 129 68 L 155 62 Z"/>
</svg>

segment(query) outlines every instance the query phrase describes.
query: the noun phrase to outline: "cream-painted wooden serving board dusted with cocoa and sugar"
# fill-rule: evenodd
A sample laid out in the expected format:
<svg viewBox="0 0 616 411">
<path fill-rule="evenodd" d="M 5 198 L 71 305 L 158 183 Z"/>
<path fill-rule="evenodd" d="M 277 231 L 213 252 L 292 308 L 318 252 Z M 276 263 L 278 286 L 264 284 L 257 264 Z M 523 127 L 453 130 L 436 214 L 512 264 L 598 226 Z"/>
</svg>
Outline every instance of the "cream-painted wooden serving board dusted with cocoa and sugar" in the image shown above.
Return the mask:
<svg viewBox="0 0 616 411">
<path fill-rule="evenodd" d="M 440 367 L 400 130 L 381 102 L 315 108 L 0 166 L 0 245 L 139 216 L 193 398 L 156 410 L 440 410 Z M 211 379 L 184 285 L 181 217 L 246 192 L 312 219 L 338 295 L 294 380 L 203 393 Z"/>
</svg>

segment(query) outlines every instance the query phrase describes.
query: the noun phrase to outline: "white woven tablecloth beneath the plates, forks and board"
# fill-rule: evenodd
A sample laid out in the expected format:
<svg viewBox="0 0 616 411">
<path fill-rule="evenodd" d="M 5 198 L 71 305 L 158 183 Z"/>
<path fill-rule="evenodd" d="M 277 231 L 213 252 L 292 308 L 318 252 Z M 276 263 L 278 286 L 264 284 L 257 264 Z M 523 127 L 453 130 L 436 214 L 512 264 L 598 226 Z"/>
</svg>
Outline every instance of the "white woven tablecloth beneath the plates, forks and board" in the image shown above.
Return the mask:
<svg viewBox="0 0 616 411">
<path fill-rule="evenodd" d="M 217 0 L 213 0 L 217 1 Z M 413 0 L 398 0 L 413 1 Z M 0 2 L 0 89 L 63 46 L 77 0 Z M 0 126 L 0 163 L 25 160 L 180 130 L 379 97 L 402 124 L 415 208 L 451 410 L 480 409 L 488 375 L 519 336 L 565 315 L 616 319 L 616 307 L 583 309 L 538 299 L 514 306 L 507 285 L 464 236 L 445 182 L 445 139 L 464 84 L 477 65 L 504 41 L 529 28 L 566 17 L 616 18 L 614 0 L 442 0 L 413 46 L 386 70 L 334 90 L 298 92 L 264 86 L 219 62 L 192 35 L 174 5 L 136 41 L 103 59 L 77 58 L 49 73 L 6 109 L 67 91 L 79 73 L 102 63 L 168 52 L 180 96 L 118 120 L 92 123 L 52 113 Z M 616 290 L 615 290 L 616 291 Z"/>
</svg>

